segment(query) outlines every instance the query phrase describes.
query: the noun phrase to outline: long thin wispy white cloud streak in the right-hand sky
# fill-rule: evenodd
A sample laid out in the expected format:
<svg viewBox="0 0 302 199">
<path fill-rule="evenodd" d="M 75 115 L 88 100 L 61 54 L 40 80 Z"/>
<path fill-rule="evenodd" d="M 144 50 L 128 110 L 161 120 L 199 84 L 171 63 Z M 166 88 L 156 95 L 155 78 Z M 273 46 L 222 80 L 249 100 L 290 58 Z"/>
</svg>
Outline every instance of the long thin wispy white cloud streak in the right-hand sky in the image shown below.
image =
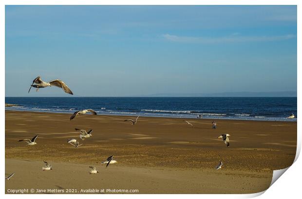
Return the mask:
<svg viewBox="0 0 302 199">
<path fill-rule="evenodd" d="M 176 36 L 165 34 L 165 39 L 174 42 L 183 43 L 223 43 L 223 42 L 253 42 L 253 41 L 279 41 L 295 38 L 295 35 L 283 36 L 220 36 L 220 37 L 204 37 L 204 36 Z"/>
</svg>

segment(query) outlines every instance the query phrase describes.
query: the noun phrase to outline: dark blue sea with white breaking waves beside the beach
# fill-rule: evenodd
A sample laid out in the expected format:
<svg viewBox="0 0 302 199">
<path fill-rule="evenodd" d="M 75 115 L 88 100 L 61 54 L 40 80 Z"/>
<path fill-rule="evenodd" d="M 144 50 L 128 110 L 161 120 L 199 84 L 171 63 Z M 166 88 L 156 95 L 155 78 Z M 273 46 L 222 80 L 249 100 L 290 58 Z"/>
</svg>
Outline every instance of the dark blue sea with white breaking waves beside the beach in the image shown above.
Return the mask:
<svg viewBox="0 0 302 199">
<path fill-rule="evenodd" d="M 100 115 L 297 121 L 297 97 L 5 97 L 6 110 Z"/>
</svg>

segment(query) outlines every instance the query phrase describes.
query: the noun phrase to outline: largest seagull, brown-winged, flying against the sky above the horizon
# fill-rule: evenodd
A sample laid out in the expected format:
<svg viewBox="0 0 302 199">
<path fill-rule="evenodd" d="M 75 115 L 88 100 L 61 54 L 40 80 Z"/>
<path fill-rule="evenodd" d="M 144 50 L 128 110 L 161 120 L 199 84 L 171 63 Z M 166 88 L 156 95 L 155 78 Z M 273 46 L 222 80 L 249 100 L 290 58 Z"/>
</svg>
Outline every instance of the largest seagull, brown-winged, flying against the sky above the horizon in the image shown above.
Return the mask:
<svg viewBox="0 0 302 199">
<path fill-rule="evenodd" d="M 36 83 L 36 84 L 34 84 L 34 83 Z M 64 82 L 62 82 L 61 80 L 56 79 L 56 80 L 52 80 L 52 81 L 50 81 L 50 82 L 44 82 L 43 80 L 41 80 L 41 77 L 40 77 L 40 76 L 38 76 L 36 79 L 34 79 L 32 85 L 30 85 L 30 88 L 29 88 L 29 90 L 28 90 L 28 93 L 29 93 L 29 91 L 30 91 L 30 89 L 31 89 L 32 87 L 37 88 L 37 92 L 38 92 L 39 88 L 45 88 L 45 87 L 51 87 L 51 86 L 59 87 L 59 88 L 63 89 L 64 92 L 66 92 L 66 93 L 68 93 L 68 94 L 71 94 L 71 95 L 74 94 L 74 93 L 68 88 L 68 86 L 67 86 Z"/>
</svg>

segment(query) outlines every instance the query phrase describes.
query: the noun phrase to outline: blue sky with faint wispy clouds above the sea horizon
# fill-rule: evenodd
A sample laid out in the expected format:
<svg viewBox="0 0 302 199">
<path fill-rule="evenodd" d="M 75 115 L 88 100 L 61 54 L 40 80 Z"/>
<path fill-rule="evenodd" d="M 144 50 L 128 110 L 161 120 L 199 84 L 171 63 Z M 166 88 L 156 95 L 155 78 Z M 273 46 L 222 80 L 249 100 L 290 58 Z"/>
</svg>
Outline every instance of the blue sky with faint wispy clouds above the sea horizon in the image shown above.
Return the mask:
<svg viewBox="0 0 302 199">
<path fill-rule="evenodd" d="M 5 96 L 297 90 L 296 6 L 6 6 Z"/>
</svg>

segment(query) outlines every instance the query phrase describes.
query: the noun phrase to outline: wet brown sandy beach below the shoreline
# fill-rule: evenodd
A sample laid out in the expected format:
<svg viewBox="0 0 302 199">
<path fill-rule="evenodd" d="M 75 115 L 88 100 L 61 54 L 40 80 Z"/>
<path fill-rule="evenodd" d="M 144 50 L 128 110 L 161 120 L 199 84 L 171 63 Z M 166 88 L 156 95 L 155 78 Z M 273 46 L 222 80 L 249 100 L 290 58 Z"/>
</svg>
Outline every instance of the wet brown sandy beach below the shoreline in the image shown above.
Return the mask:
<svg viewBox="0 0 302 199">
<path fill-rule="evenodd" d="M 297 122 L 215 120 L 212 129 L 208 119 L 188 119 L 191 128 L 181 118 L 140 117 L 132 125 L 123 120 L 135 116 L 81 115 L 70 121 L 70 115 L 5 111 L 5 176 L 15 172 L 5 181 L 5 193 L 256 193 L 296 154 Z M 94 129 L 78 148 L 67 143 L 79 140 L 75 128 Z M 222 133 L 230 134 L 230 147 L 217 138 Z M 36 134 L 37 145 L 17 142 Z M 106 168 L 101 162 L 111 155 L 117 163 Z M 53 170 L 42 171 L 43 160 Z M 219 161 L 222 169 L 215 170 Z M 100 173 L 90 175 L 89 166 Z"/>
</svg>

